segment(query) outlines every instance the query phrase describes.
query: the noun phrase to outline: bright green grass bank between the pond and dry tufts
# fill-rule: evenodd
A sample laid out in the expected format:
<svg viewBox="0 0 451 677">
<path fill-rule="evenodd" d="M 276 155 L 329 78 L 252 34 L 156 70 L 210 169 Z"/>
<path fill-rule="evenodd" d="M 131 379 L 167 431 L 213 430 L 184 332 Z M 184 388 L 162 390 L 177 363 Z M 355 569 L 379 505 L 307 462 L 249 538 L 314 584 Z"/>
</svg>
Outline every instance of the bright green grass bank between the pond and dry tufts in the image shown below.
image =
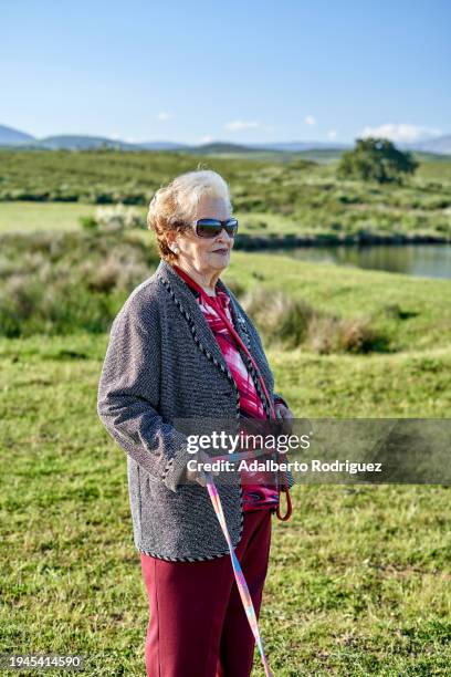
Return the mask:
<svg viewBox="0 0 451 677">
<path fill-rule="evenodd" d="M 274 254 L 232 253 L 224 280 L 245 289 L 282 289 L 315 308 L 343 316 L 369 315 L 390 336 L 391 350 L 449 347 L 451 284 L 358 268 L 295 261 Z M 398 308 L 401 317 L 392 316 Z"/>
</svg>

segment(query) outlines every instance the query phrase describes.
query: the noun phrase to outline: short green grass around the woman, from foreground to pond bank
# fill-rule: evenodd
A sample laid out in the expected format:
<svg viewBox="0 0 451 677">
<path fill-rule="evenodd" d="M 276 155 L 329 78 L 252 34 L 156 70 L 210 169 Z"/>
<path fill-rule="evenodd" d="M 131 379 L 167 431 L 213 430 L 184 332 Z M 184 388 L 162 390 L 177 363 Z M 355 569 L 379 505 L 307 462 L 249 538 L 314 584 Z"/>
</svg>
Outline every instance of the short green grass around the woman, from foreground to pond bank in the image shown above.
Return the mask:
<svg viewBox="0 0 451 677">
<path fill-rule="evenodd" d="M 263 278 L 262 278 L 263 275 Z M 224 280 L 377 313 L 396 352 L 268 348 L 303 417 L 447 417 L 450 284 L 234 252 Z M 391 327 L 391 329 L 390 329 Z M 106 334 L 0 340 L 0 652 L 87 657 L 91 676 L 144 674 L 147 597 L 125 454 L 96 415 Z M 449 675 L 449 488 L 304 486 L 273 521 L 261 613 L 277 677 Z M 262 677 L 255 653 L 254 677 Z"/>
</svg>

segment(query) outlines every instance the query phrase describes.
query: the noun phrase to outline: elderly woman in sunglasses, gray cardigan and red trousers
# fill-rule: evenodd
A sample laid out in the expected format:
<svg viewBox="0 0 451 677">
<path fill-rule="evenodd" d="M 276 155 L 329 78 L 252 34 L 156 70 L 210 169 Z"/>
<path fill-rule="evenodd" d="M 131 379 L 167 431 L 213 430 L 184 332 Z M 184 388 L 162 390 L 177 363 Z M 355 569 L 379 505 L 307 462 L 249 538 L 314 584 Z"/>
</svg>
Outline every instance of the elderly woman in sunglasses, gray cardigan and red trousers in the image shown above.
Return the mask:
<svg viewBox="0 0 451 677">
<path fill-rule="evenodd" d="M 176 423 L 265 419 L 274 408 L 291 419 L 292 413 L 273 392 L 254 325 L 220 279 L 238 230 L 223 178 L 208 170 L 175 178 L 151 200 L 148 225 L 161 261 L 115 317 L 97 404 L 127 454 L 134 541 L 150 612 L 147 675 L 248 677 L 254 637 L 204 476 L 188 469 L 192 455 Z M 218 492 L 259 615 L 277 491 L 226 482 Z"/>
</svg>

